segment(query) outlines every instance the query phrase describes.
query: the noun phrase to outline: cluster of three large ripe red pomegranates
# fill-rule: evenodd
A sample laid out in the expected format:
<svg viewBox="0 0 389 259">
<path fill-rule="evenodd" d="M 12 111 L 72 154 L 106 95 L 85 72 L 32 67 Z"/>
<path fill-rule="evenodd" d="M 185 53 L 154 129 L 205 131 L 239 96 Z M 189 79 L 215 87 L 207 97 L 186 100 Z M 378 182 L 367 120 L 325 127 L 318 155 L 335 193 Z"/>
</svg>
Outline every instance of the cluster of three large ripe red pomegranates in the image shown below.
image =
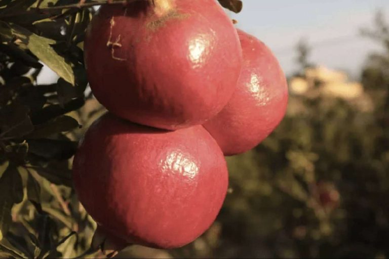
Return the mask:
<svg viewBox="0 0 389 259">
<path fill-rule="evenodd" d="M 101 7 L 85 62 L 109 112 L 74 157 L 80 201 L 124 243 L 190 243 L 222 206 L 224 155 L 255 147 L 285 114 L 278 61 L 215 0 L 149 0 Z"/>
</svg>

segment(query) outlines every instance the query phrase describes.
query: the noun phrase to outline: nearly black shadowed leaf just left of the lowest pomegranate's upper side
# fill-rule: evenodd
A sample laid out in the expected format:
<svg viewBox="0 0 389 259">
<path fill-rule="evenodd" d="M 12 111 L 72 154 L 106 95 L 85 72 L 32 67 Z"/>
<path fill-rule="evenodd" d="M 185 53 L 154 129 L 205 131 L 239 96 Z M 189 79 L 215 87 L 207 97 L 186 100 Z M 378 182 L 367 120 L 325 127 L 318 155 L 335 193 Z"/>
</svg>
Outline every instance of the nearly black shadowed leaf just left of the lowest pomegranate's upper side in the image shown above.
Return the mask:
<svg viewBox="0 0 389 259">
<path fill-rule="evenodd" d="M 47 160 L 65 160 L 72 157 L 77 142 L 51 139 L 31 139 L 28 141 L 28 153 Z"/>
</svg>

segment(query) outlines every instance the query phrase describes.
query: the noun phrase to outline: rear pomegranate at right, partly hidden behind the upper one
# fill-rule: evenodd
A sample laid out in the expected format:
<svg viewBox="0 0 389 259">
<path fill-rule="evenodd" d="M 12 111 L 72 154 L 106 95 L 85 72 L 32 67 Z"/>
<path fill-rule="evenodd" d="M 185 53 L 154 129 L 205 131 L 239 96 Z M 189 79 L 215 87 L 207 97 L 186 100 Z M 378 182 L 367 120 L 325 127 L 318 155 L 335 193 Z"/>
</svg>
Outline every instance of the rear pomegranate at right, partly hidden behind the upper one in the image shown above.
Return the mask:
<svg viewBox="0 0 389 259">
<path fill-rule="evenodd" d="M 288 84 L 276 57 L 262 41 L 238 30 L 243 66 L 237 89 L 204 127 L 224 155 L 244 153 L 275 130 L 285 115 Z"/>
</svg>

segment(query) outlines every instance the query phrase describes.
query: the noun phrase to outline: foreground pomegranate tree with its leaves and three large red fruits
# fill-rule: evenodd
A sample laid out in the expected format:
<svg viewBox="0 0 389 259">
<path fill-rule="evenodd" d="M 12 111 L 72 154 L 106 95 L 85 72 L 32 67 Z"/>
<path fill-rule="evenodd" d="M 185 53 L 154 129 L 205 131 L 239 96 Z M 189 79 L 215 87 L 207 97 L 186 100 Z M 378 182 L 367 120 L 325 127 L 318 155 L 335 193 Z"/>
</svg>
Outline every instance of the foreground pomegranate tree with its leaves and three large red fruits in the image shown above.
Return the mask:
<svg viewBox="0 0 389 259">
<path fill-rule="evenodd" d="M 1 257 L 179 248 L 211 227 L 224 156 L 263 141 L 288 102 L 273 53 L 225 12 L 242 6 L 0 1 Z"/>
</svg>

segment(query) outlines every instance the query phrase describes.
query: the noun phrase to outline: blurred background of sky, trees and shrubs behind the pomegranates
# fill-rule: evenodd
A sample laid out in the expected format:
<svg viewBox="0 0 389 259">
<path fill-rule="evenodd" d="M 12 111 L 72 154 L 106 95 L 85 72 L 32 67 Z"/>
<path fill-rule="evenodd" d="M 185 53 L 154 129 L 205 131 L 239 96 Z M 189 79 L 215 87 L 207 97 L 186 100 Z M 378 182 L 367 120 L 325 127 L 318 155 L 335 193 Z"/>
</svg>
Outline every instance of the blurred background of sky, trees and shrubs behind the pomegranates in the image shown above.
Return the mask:
<svg viewBox="0 0 389 259">
<path fill-rule="evenodd" d="M 279 58 L 287 115 L 255 150 L 227 158 L 229 192 L 206 234 L 117 257 L 389 257 L 389 1 L 245 0 L 230 15 Z M 38 82 L 56 79 L 45 68 Z"/>
</svg>

